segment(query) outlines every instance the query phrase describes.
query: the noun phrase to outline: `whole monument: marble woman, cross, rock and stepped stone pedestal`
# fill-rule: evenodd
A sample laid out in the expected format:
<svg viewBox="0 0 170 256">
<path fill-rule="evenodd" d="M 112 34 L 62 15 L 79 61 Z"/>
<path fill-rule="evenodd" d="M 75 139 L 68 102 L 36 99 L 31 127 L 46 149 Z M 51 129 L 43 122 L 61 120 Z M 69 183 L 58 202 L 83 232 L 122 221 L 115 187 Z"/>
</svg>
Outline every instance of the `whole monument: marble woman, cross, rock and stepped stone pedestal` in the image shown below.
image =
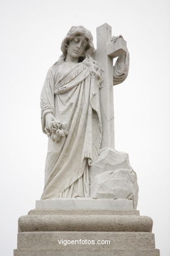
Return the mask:
<svg viewBox="0 0 170 256">
<path fill-rule="evenodd" d="M 95 50 L 90 31 L 73 26 L 61 51 L 41 93 L 44 192 L 18 220 L 14 256 L 160 256 L 152 219 L 136 210 L 137 175 L 128 155 L 114 149 L 113 85 L 127 77 L 126 41 L 103 24 Z"/>
</svg>

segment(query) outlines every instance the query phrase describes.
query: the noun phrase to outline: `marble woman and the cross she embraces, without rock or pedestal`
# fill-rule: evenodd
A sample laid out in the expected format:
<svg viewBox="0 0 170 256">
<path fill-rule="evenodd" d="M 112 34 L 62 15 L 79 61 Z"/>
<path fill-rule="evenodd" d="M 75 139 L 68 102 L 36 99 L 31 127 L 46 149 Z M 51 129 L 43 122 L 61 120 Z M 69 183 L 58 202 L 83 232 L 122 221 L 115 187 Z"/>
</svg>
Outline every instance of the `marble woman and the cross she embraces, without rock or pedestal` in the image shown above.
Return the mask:
<svg viewBox="0 0 170 256">
<path fill-rule="evenodd" d="M 125 43 L 115 48 L 121 41 L 121 35 L 109 39 L 105 58 L 105 42 L 97 40 L 95 51 L 92 33 L 73 26 L 61 43 L 63 54 L 48 70 L 41 93 L 48 136 L 42 200 L 90 197 L 90 168 L 101 149 L 114 150 L 112 85 L 122 83 L 129 68 Z"/>
</svg>

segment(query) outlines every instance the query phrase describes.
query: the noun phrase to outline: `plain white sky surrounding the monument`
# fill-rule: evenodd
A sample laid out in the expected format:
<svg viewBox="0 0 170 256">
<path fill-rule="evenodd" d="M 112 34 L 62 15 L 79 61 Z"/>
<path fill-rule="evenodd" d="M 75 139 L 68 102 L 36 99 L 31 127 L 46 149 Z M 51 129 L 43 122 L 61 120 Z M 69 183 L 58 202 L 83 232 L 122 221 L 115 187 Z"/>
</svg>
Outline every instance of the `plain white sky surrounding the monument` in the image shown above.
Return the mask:
<svg viewBox="0 0 170 256">
<path fill-rule="evenodd" d="M 17 221 L 42 194 L 47 138 L 40 93 L 73 25 L 107 22 L 130 53 L 129 75 L 114 87 L 116 150 L 129 154 L 141 215 L 154 221 L 156 247 L 169 256 L 170 3 L 165 0 L 1 0 L 1 255 L 16 248 Z M 95 44 L 96 45 L 96 44 Z"/>
</svg>

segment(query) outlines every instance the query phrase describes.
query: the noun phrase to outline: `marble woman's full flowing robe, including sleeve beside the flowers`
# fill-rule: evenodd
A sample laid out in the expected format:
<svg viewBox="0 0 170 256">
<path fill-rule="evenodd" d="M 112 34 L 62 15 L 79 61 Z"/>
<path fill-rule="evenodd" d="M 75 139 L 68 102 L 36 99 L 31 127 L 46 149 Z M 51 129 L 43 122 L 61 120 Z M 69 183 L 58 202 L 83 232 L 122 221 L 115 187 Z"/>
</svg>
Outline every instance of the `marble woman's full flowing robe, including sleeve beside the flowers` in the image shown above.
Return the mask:
<svg viewBox="0 0 170 256">
<path fill-rule="evenodd" d="M 41 199 L 89 196 L 88 168 L 99 154 L 101 114 L 99 72 L 95 64 L 63 62 L 50 68 L 41 93 L 45 115 L 67 123 L 67 137 L 48 139 L 45 186 Z"/>
</svg>

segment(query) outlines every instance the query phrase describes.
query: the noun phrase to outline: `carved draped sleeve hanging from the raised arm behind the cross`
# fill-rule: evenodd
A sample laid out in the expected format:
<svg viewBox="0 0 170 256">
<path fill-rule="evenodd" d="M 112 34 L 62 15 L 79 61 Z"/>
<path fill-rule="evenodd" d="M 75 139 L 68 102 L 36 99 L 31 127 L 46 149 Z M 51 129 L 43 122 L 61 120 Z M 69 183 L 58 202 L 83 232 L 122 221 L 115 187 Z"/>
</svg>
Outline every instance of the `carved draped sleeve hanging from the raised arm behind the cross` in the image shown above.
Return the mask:
<svg viewBox="0 0 170 256">
<path fill-rule="evenodd" d="M 127 51 L 126 57 L 122 58 L 118 57 L 116 63 L 113 67 L 113 85 L 118 85 L 122 83 L 128 74 L 129 71 L 129 52 Z"/>
</svg>

